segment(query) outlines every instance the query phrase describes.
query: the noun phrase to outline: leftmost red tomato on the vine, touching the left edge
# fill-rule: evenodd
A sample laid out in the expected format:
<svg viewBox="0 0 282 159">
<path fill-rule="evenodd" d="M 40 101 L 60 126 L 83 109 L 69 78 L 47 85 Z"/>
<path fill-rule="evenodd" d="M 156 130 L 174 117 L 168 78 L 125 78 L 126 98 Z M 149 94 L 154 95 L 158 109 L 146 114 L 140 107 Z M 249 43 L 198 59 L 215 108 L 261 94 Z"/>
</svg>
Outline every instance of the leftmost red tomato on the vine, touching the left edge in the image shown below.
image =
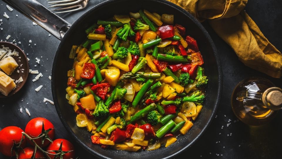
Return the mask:
<svg viewBox="0 0 282 159">
<path fill-rule="evenodd" d="M 11 149 L 15 143 L 19 143 L 21 141 L 21 136 L 24 130 L 16 126 L 8 126 L 0 131 L 0 152 L 5 156 L 14 156 L 15 152 L 11 153 Z M 26 138 L 24 136 L 24 140 L 21 144 L 21 147 L 24 148 L 26 145 Z"/>
</svg>

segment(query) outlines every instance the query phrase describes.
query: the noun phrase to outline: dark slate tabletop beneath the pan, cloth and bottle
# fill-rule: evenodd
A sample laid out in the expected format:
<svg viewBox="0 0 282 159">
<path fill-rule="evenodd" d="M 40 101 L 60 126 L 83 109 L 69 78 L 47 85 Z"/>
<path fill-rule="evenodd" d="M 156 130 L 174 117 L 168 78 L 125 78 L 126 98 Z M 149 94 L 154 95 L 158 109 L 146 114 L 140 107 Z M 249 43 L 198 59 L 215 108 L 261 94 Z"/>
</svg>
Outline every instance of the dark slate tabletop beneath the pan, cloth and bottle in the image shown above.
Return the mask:
<svg viewBox="0 0 282 159">
<path fill-rule="evenodd" d="M 46 0 L 38 1 L 47 6 Z M 92 0 L 86 9 L 73 14 L 60 14 L 60 16 L 73 23 L 84 12 L 100 2 L 102 0 Z M 246 12 L 253 18 L 268 40 L 280 51 L 282 50 L 281 8 L 282 1 L 277 0 L 249 0 L 246 6 Z M 4 12 L 10 16 L 9 19 L 2 16 Z M 55 107 L 50 103 L 43 103 L 44 97 L 52 100 L 51 81 L 48 76 L 51 75 L 54 54 L 60 41 L 55 37 L 49 37 L 48 32 L 39 26 L 34 26 L 32 21 L 16 10 L 10 12 L 4 2 L 0 2 L 0 14 L 0 19 L 3 19 L 0 26 L 0 28 L 3 28 L 3 30 L 0 30 L 0 40 L 5 41 L 6 36 L 11 35 L 8 42 L 12 42 L 14 39 L 17 43 L 20 41 L 19 47 L 24 50 L 30 59 L 30 69 L 38 70 L 43 74 L 43 77 L 36 82 L 32 82 L 36 75 L 30 74 L 28 81 L 19 93 L 11 98 L 0 99 L 0 128 L 15 125 L 24 129 L 30 119 L 45 117 L 56 127 L 56 138 L 65 138 L 75 144 L 75 141 L 70 138 L 59 120 Z M 238 60 L 234 51 L 215 34 L 209 24 L 206 22 L 203 24 L 214 40 L 221 58 L 223 69 L 221 103 L 216 113 L 217 117 L 212 121 L 202 138 L 177 158 L 282 158 L 282 113 L 279 112 L 268 125 L 250 127 L 242 122 L 235 122 L 237 119 L 230 104 L 232 90 L 244 78 L 251 76 L 266 77 L 278 87 L 282 87 L 282 80 L 268 77 L 246 67 Z M 32 40 L 32 42 L 29 43 L 29 40 Z M 28 46 L 29 44 L 30 46 Z M 40 59 L 40 64 L 35 62 L 36 57 Z M 43 85 L 43 88 L 39 92 L 35 92 L 34 89 L 40 85 Z M 20 113 L 20 107 L 28 108 L 31 117 L 25 111 Z M 229 119 L 231 124 L 227 127 Z M 221 128 L 222 126 L 224 127 Z M 75 147 L 76 154 L 81 159 L 95 158 L 79 145 L 75 144 Z M 8 159 L 2 154 L 0 154 L 0 158 Z"/>
</svg>

